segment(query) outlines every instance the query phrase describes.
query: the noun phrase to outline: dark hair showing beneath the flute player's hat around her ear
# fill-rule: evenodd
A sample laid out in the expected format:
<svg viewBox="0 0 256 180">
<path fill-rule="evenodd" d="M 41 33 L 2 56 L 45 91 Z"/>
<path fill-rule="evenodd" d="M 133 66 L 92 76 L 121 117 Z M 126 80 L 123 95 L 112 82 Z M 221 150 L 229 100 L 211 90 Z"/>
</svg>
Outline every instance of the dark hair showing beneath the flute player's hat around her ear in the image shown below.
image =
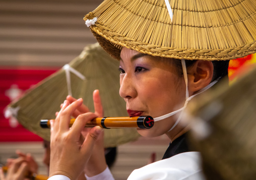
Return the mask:
<svg viewBox="0 0 256 180">
<path fill-rule="evenodd" d="M 183 71 L 182 71 L 182 65 L 181 65 L 181 60 L 179 59 L 172 59 L 173 64 L 177 67 L 177 74 L 179 76 L 183 76 Z M 186 68 L 189 69 L 189 67 L 193 66 L 193 64 L 196 61 L 191 61 L 191 60 L 185 60 Z M 213 78 L 212 81 L 215 81 L 216 79 L 222 79 L 226 75 L 228 75 L 228 65 L 229 65 L 229 60 L 228 61 L 212 61 L 213 63 Z M 211 82 L 212 82 L 211 81 Z"/>
</svg>

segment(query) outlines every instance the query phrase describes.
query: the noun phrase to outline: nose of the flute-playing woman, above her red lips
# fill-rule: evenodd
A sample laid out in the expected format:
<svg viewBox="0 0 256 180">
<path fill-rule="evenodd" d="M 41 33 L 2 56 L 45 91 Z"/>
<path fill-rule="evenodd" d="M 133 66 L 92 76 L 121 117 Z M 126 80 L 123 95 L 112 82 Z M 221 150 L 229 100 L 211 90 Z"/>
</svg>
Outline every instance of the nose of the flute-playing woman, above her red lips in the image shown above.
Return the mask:
<svg viewBox="0 0 256 180">
<path fill-rule="evenodd" d="M 120 79 L 119 94 L 123 99 L 131 99 L 137 96 L 137 91 L 133 79 L 127 74 Z"/>
</svg>

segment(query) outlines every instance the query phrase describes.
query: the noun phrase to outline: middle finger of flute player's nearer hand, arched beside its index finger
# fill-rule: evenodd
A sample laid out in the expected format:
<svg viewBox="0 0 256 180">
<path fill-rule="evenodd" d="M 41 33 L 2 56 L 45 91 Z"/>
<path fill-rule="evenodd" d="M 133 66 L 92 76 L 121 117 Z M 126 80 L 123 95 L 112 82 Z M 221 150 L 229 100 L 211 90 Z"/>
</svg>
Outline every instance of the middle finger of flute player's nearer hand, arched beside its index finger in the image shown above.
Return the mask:
<svg viewBox="0 0 256 180">
<path fill-rule="evenodd" d="M 70 119 L 73 112 L 83 103 L 83 99 L 80 98 L 77 101 L 71 103 L 67 108 L 65 108 L 62 112 L 59 112 L 58 115 L 60 117 L 59 128 L 61 131 L 68 131 L 70 128 Z M 65 107 L 65 104 L 63 104 Z"/>
</svg>

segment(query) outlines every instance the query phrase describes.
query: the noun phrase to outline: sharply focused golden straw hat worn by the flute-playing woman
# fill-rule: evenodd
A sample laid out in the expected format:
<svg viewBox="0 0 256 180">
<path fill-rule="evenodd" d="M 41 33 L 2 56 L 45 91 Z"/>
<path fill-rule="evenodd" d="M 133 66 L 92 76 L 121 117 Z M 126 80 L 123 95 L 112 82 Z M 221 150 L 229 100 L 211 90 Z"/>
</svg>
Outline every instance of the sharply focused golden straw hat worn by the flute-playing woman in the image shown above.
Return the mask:
<svg viewBox="0 0 256 180">
<path fill-rule="evenodd" d="M 254 0 L 106 0 L 84 20 L 112 57 L 126 47 L 141 53 L 187 60 L 231 60 L 256 52 Z"/>
</svg>

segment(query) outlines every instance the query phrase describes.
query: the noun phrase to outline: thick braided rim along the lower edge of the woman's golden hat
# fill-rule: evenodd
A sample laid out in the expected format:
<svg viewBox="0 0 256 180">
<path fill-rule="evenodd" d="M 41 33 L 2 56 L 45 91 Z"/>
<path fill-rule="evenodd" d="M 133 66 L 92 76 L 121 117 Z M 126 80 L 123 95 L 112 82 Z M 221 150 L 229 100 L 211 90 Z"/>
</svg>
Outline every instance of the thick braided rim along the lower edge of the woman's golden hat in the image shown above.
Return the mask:
<svg viewBox="0 0 256 180">
<path fill-rule="evenodd" d="M 86 21 L 87 19 L 92 19 L 94 17 L 93 13 L 89 13 L 84 17 L 84 20 Z M 169 48 L 146 44 L 124 37 L 123 35 L 112 32 L 109 28 L 101 25 L 99 22 L 96 22 L 95 25 L 91 26 L 90 30 L 103 49 L 117 60 L 120 59 L 121 47 L 164 58 L 207 61 L 231 60 L 256 53 L 255 40 L 245 45 L 228 49 L 209 50 Z M 116 46 L 118 46 L 118 48 Z"/>
</svg>

